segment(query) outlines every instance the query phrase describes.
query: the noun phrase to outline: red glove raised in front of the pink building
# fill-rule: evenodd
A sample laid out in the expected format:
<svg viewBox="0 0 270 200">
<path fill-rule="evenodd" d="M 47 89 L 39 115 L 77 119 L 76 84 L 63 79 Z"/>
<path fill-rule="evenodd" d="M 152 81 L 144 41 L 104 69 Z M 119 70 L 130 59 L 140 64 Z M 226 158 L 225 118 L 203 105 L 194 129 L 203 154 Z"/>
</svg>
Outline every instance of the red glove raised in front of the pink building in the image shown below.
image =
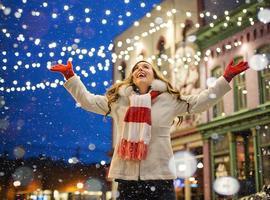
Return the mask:
<svg viewBox="0 0 270 200">
<path fill-rule="evenodd" d="M 247 70 L 248 68 L 249 67 L 247 62 L 241 61 L 240 63 L 234 66 L 232 60 L 229 63 L 229 65 L 225 68 L 223 76 L 228 82 L 230 82 L 234 76 L 240 74 L 241 72 Z"/>
</svg>

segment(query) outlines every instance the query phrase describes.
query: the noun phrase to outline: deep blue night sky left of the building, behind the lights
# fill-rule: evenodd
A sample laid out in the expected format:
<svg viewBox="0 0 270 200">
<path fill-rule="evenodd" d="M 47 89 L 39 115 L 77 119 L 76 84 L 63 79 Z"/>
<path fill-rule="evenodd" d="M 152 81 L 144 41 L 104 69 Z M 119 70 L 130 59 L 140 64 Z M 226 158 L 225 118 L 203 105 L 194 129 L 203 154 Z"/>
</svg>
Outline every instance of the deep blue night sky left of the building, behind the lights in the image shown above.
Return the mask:
<svg viewBox="0 0 270 200">
<path fill-rule="evenodd" d="M 89 91 L 104 94 L 112 84 L 110 44 L 159 3 L 1 1 L 0 153 L 108 162 L 111 119 L 78 107 L 61 85 L 62 75 L 48 67 L 72 58 Z"/>
</svg>

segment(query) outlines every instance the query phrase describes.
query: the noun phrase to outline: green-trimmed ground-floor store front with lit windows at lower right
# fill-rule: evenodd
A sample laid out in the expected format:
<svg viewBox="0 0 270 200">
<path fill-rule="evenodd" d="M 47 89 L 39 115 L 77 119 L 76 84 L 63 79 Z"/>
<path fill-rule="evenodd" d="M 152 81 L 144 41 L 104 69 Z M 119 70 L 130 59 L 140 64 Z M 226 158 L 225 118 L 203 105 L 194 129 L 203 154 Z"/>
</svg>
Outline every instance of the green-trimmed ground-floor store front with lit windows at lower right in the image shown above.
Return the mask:
<svg viewBox="0 0 270 200">
<path fill-rule="evenodd" d="M 232 199 L 259 192 L 270 184 L 270 105 L 239 112 L 230 117 L 200 125 L 210 143 L 211 183 L 231 176 L 240 189 Z M 213 199 L 224 199 L 211 188 Z"/>
</svg>

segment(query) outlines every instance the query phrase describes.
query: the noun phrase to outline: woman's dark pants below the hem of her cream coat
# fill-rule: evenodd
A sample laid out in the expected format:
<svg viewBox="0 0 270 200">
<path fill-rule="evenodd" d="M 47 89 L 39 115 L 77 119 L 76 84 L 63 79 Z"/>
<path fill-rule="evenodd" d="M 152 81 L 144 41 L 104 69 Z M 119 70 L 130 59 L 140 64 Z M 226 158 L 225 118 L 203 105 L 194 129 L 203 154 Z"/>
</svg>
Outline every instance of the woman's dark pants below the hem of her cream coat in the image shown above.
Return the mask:
<svg viewBox="0 0 270 200">
<path fill-rule="evenodd" d="M 138 180 L 116 179 L 119 196 L 117 200 L 175 200 L 173 180 Z"/>
</svg>

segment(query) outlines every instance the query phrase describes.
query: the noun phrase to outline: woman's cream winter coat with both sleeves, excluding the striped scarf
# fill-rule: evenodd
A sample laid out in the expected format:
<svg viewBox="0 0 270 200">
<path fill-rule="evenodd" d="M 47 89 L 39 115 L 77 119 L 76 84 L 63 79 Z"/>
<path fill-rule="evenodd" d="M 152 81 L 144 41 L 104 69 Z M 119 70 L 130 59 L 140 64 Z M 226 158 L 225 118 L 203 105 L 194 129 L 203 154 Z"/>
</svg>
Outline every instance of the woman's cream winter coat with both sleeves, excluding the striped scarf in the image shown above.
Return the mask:
<svg viewBox="0 0 270 200">
<path fill-rule="evenodd" d="M 106 96 L 91 94 L 87 91 L 78 76 L 73 76 L 66 81 L 64 87 L 85 110 L 101 115 L 107 113 L 108 105 Z M 162 81 L 153 81 L 153 90 L 160 91 L 162 88 L 164 88 Z M 185 101 L 177 100 L 168 92 L 160 94 L 151 108 L 151 140 L 146 160 L 122 160 L 117 155 L 117 151 L 114 151 L 108 177 L 124 180 L 138 180 L 139 178 L 141 180 L 175 179 L 175 171 L 171 171 L 168 165 L 170 159 L 173 159 L 170 139 L 170 127 L 173 119 L 177 115 L 186 114 L 186 102 L 190 104 L 190 113 L 202 112 L 217 103 L 230 89 L 229 83 L 221 76 L 217 79 L 215 86 L 203 90 L 200 94 L 182 96 L 181 98 Z M 130 87 L 121 88 L 119 99 L 112 105 L 110 115 L 117 126 L 117 144 L 120 140 L 119 133 L 122 131 L 124 115 L 129 106 L 128 96 L 130 92 Z M 216 98 L 209 98 L 210 94 L 215 94 Z M 115 149 L 117 149 L 117 145 Z"/>
</svg>

